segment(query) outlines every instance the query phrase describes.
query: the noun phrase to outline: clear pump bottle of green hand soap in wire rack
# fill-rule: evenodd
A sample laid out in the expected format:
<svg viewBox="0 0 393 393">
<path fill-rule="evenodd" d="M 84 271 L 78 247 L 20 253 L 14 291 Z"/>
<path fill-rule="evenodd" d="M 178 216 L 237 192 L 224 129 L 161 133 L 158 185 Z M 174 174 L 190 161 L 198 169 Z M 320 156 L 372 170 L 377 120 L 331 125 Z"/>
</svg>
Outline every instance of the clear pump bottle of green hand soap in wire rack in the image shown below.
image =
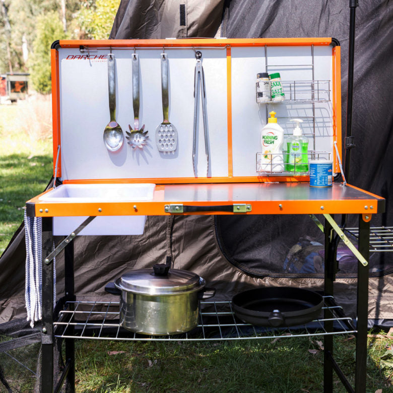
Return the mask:
<svg viewBox="0 0 393 393">
<path fill-rule="evenodd" d="M 287 154 L 285 170 L 288 172 L 307 172 L 308 171 L 308 139 L 302 137 L 301 119 L 291 119 L 296 122 L 293 136 L 287 139 Z"/>
</svg>

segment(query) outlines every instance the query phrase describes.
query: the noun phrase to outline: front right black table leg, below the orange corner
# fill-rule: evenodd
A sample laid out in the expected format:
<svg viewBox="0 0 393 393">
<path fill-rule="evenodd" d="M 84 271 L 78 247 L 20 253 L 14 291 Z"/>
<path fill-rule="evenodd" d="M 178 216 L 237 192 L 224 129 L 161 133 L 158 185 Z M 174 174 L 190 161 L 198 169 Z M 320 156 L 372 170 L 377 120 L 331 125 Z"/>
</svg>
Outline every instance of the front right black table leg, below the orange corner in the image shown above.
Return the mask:
<svg viewBox="0 0 393 393">
<path fill-rule="evenodd" d="M 359 215 L 359 251 L 369 260 L 370 223 L 363 221 Z M 356 372 L 355 391 L 366 391 L 366 365 L 367 365 L 367 321 L 368 321 L 368 272 L 369 265 L 363 266 L 358 262 L 357 287 L 357 334 L 356 334 Z"/>
</svg>

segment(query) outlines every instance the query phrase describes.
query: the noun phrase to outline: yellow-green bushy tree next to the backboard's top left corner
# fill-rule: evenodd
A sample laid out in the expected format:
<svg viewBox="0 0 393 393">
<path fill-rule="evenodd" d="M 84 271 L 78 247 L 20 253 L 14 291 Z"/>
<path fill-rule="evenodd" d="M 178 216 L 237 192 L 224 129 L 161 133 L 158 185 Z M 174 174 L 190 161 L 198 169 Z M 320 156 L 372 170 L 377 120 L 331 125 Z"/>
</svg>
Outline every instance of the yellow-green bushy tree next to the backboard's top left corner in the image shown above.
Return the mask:
<svg viewBox="0 0 393 393">
<path fill-rule="evenodd" d="M 29 71 L 33 88 L 42 94 L 50 93 L 50 46 L 53 41 L 67 38 L 57 11 L 51 11 L 37 18 L 37 34 L 33 41 L 33 54 Z"/>
</svg>

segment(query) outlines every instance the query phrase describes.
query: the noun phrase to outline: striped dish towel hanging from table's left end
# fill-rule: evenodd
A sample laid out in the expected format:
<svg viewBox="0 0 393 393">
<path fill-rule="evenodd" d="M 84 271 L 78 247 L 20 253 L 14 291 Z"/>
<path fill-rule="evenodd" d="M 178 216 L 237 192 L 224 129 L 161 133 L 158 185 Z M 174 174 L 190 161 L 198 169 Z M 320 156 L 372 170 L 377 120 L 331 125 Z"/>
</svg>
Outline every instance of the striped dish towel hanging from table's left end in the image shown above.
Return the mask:
<svg viewBox="0 0 393 393">
<path fill-rule="evenodd" d="M 42 319 L 42 218 L 28 217 L 25 211 L 26 281 L 25 301 L 27 320 Z M 53 259 L 53 304 L 56 303 L 56 260 Z"/>
</svg>

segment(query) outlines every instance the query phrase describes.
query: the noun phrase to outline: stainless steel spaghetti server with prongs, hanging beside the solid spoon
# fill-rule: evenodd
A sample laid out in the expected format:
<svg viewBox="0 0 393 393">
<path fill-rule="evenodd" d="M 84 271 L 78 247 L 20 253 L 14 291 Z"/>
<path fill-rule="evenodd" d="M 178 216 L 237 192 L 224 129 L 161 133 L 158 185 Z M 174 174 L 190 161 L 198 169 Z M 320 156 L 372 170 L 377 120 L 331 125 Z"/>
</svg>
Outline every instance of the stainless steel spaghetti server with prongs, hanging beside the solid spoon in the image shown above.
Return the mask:
<svg viewBox="0 0 393 393">
<path fill-rule="evenodd" d="M 144 132 L 145 124 L 139 129 L 139 55 L 137 53 L 133 53 L 132 55 L 132 64 L 134 129 L 128 124 L 129 132 L 125 132 L 127 134 L 125 138 L 128 140 L 128 145 L 133 149 L 142 149 L 147 144 L 149 137 L 147 135 L 148 131 Z"/>
</svg>

